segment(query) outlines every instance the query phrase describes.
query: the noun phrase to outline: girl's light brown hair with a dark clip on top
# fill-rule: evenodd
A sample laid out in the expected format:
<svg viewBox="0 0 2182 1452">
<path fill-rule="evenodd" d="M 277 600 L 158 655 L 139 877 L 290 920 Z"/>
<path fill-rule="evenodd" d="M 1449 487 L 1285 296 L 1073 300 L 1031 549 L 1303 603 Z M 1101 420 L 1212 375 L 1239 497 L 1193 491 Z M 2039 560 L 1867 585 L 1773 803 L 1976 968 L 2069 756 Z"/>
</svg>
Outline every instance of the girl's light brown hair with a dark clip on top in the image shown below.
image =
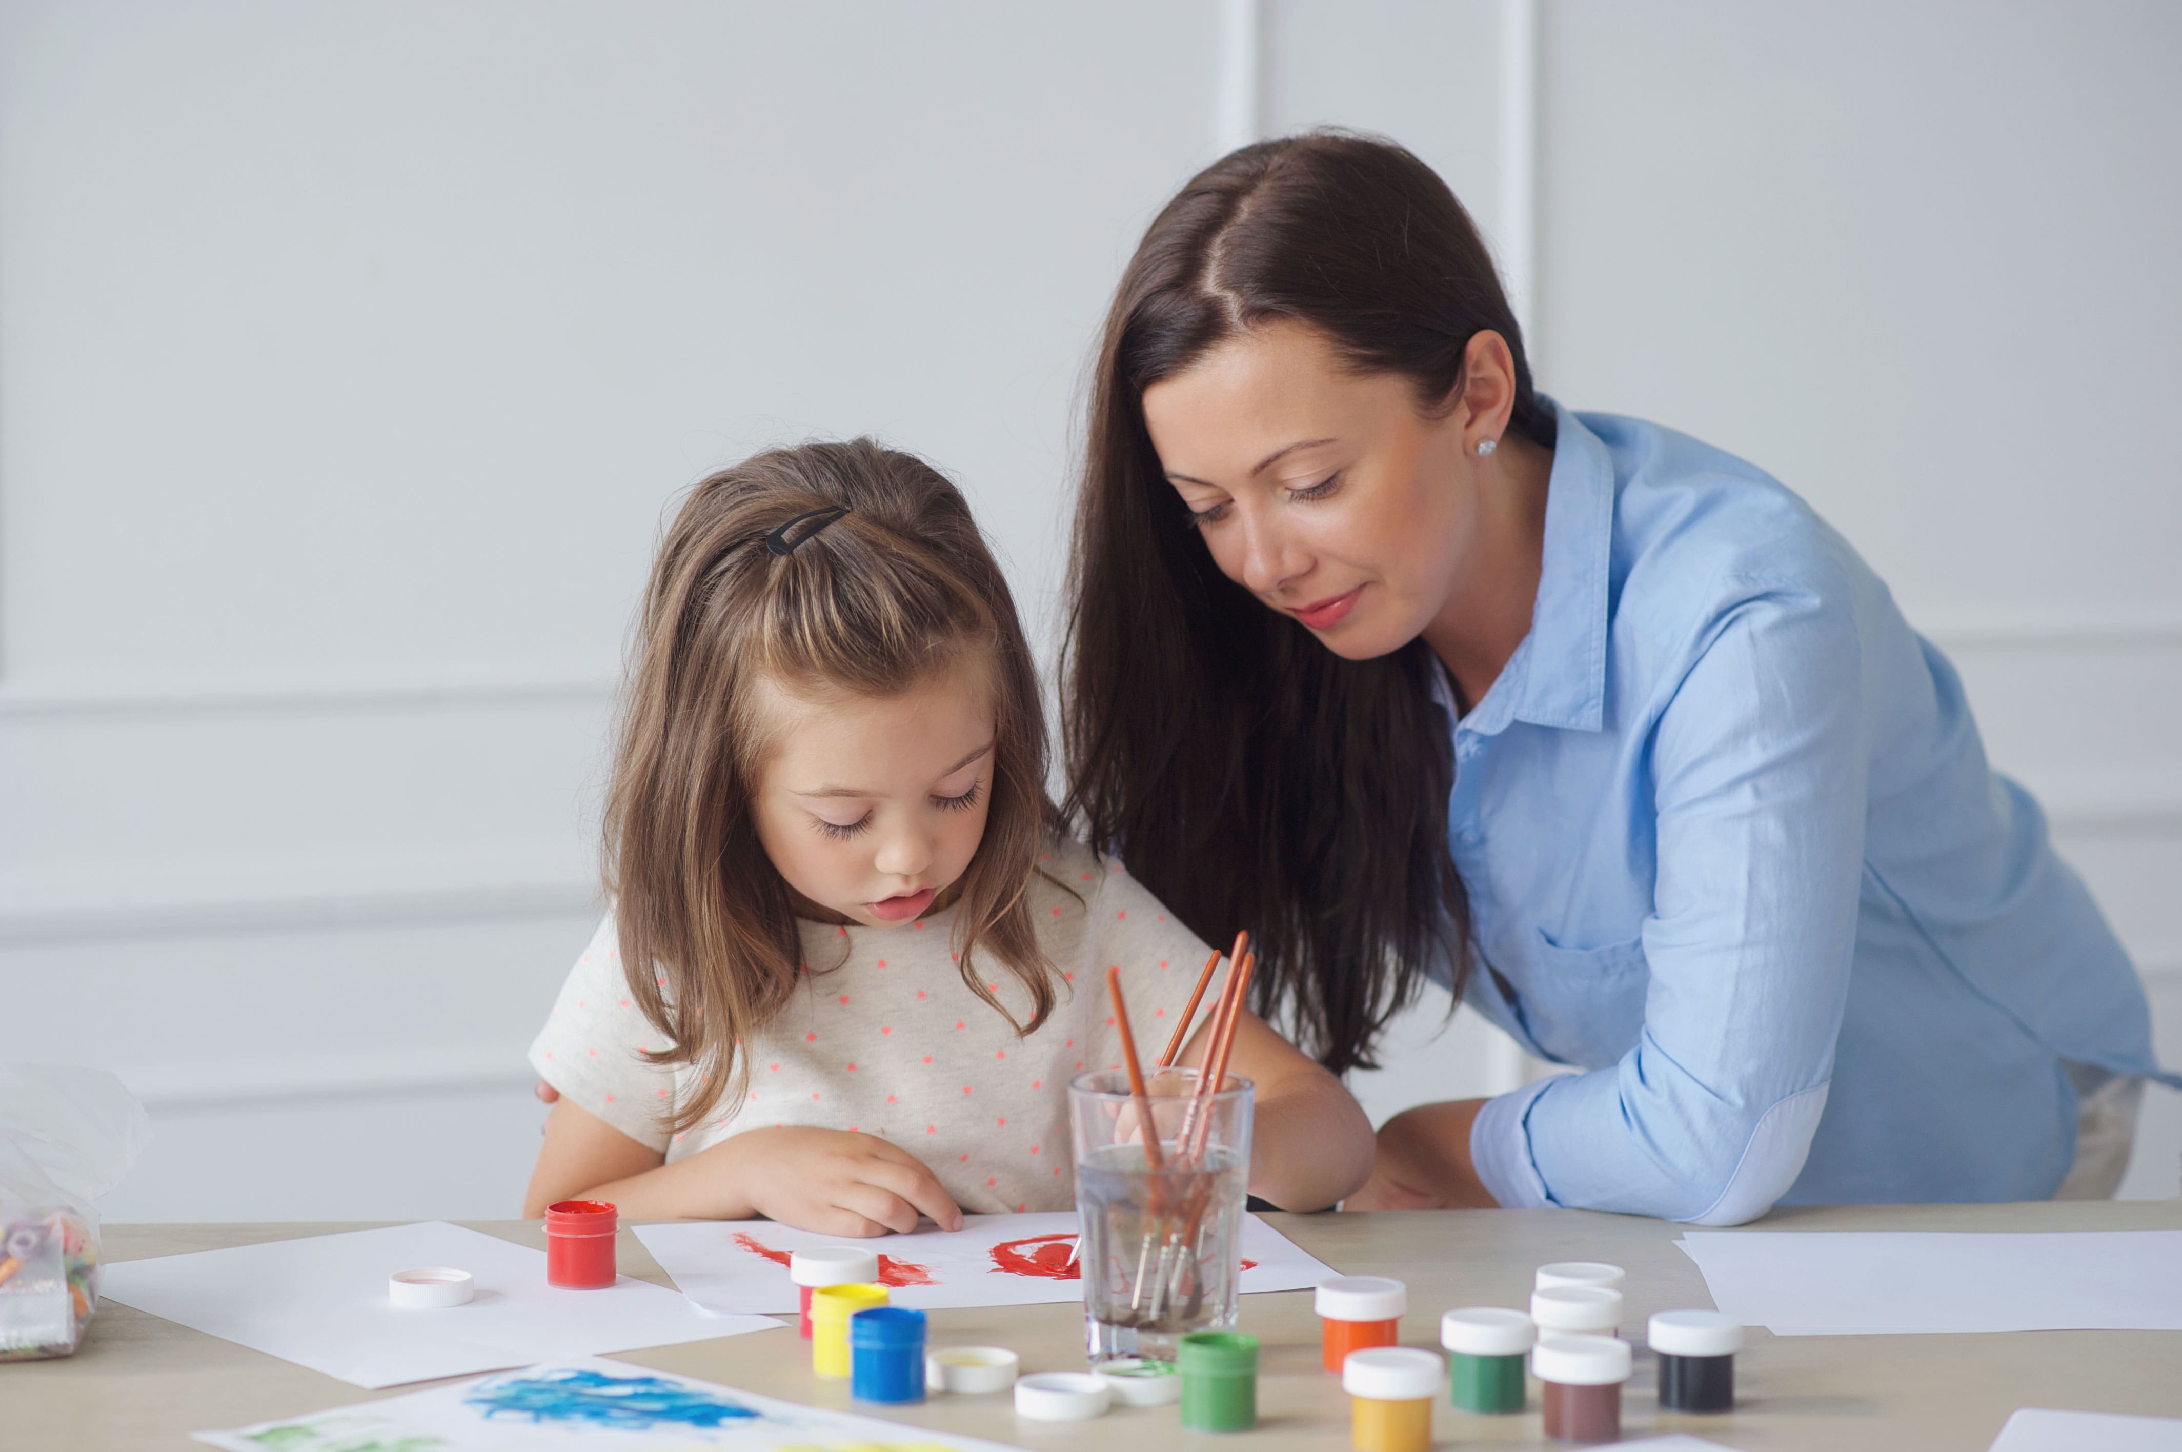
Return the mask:
<svg viewBox="0 0 2182 1452">
<path fill-rule="evenodd" d="M 847 507 L 788 555 L 766 535 Z M 801 935 L 788 884 L 751 819 L 764 766 L 753 686 L 884 699 L 969 668 L 993 692 L 993 797 L 956 900 L 962 983 L 1006 1015 L 971 956 L 991 948 L 1054 1004 L 1026 889 L 1054 828 L 1036 666 L 999 563 L 969 504 L 932 465 L 871 439 L 772 450 L 722 469 L 668 526 L 644 594 L 604 814 L 631 1000 L 696 1068 L 672 1129 L 742 1098 L 735 1055 L 796 991 Z M 825 965 L 812 965 L 820 969 Z M 1012 1015 L 1010 1015 L 1010 1022 Z"/>
</svg>

